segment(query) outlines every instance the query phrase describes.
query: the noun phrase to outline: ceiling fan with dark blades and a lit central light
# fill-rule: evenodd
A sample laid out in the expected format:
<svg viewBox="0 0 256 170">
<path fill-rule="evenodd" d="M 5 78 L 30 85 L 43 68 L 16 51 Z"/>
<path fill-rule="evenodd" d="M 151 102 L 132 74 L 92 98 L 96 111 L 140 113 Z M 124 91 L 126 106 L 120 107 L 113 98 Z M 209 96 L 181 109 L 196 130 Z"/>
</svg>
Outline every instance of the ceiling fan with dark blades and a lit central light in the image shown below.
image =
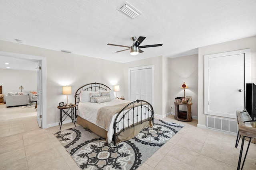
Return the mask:
<svg viewBox="0 0 256 170">
<path fill-rule="evenodd" d="M 140 46 L 140 44 L 142 43 L 142 41 L 145 39 L 146 37 L 131 37 L 131 40 L 133 41 L 133 44 L 131 47 L 128 46 L 124 46 L 124 45 L 116 45 L 116 44 L 108 44 L 108 45 L 114 45 L 114 46 L 118 46 L 118 47 L 127 47 L 128 49 L 130 49 L 130 54 L 131 55 L 137 55 L 138 53 L 143 53 L 144 51 L 142 51 L 142 48 L 148 48 L 148 47 L 158 47 L 158 46 L 162 46 L 163 44 L 154 44 L 154 45 L 143 45 Z M 126 51 L 128 49 L 125 50 L 121 50 L 121 51 Z M 116 53 L 119 53 L 121 51 L 116 51 Z"/>
</svg>

